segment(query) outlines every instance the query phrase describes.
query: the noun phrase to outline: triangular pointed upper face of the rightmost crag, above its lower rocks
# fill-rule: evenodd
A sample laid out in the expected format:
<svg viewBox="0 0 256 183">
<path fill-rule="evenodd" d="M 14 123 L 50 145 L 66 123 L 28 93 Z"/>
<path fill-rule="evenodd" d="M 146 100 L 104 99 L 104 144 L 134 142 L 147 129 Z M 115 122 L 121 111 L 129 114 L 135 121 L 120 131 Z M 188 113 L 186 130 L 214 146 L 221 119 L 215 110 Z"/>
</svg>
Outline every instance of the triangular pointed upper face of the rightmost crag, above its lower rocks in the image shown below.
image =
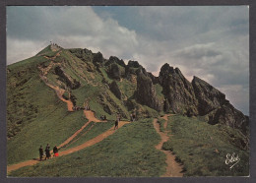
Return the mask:
<svg viewBox="0 0 256 183">
<path fill-rule="evenodd" d="M 194 77 L 192 86 L 198 99 L 198 111 L 200 115 L 206 115 L 228 102 L 223 92 L 218 91 L 197 77 Z"/>
</svg>

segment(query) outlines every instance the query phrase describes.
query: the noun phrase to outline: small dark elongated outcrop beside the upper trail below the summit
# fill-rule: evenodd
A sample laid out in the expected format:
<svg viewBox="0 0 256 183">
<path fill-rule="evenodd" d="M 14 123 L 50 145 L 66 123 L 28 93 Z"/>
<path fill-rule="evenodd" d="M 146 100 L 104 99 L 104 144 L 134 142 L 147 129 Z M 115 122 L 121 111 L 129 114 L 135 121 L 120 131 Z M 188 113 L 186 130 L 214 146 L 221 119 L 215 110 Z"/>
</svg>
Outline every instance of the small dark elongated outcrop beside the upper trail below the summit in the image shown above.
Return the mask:
<svg viewBox="0 0 256 183">
<path fill-rule="evenodd" d="M 80 82 L 76 81 L 76 79 L 72 79 L 70 76 L 64 73 L 61 67 L 57 66 L 54 69 L 55 74 L 59 76 L 59 80 L 66 84 L 69 89 L 76 90 L 80 88 Z"/>
</svg>

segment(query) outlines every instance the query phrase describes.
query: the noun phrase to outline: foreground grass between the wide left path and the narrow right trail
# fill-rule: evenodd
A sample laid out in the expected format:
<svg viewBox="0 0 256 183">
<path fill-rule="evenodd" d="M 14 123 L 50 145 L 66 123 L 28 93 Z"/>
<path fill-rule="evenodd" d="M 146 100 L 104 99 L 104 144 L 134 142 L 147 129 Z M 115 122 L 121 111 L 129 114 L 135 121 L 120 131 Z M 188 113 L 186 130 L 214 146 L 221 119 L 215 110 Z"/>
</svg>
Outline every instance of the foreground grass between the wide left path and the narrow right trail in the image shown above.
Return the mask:
<svg viewBox="0 0 256 183">
<path fill-rule="evenodd" d="M 160 176 L 165 155 L 152 119 L 127 124 L 93 147 L 12 172 L 11 176 Z"/>
</svg>

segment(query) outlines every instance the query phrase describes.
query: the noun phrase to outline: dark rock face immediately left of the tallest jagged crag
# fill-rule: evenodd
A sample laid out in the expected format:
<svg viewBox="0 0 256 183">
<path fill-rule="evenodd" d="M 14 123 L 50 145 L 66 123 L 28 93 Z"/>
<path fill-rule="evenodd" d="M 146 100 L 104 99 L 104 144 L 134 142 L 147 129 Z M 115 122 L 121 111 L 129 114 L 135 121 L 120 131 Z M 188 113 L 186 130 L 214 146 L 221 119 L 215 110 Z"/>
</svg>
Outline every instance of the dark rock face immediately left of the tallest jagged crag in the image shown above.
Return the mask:
<svg viewBox="0 0 256 183">
<path fill-rule="evenodd" d="M 162 110 L 152 80 L 150 77 L 145 76 L 143 72 L 137 75 L 136 99 L 141 104 L 148 105 L 158 111 Z"/>
</svg>

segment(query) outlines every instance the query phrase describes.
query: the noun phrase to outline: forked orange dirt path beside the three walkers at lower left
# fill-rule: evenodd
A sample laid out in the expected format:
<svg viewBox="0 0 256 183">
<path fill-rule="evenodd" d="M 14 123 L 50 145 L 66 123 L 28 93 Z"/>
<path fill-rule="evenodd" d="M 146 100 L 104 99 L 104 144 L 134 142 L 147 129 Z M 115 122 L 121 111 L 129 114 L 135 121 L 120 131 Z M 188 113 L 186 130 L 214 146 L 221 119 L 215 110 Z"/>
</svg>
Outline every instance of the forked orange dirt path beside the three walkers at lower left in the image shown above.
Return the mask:
<svg viewBox="0 0 256 183">
<path fill-rule="evenodd" d="M 60 146 L 58 146 L 58 148 L 61 148 L 61 147 L 65 146 L 66 144 L 68 144 L 70 141 L 72 141 L 92 121 L 102 122 L 102 121 L 99 121 L 98 119 L 96 119 L 95 113 L 93 111 L 84 110 L 84 113 L 85 113 L 85 115 L 86 115 L 86 117 L 88 118 L 89 121 L 81 129 L 79 129 L 75 134 L 73 134 L 69 139 L 67 139 L 64 143 L 62 143 Z M 130 122 L 120 121 L 118 127 L 121 128 L 123 125 L 125 125 L 127 123 L 130 123 Z M 84 144 L 82 144 L 80 146 L 74 147 L 72 149 L 69 149 L 69 150 L 66 150 L 66 151 L 63 151 L 63 152 L 59 152 L 59 156 L 66 155 L 66 154 L 73 153 L 73 152 L 78 152 L 78 151 L 83 150 L 87 147 L 93 146 L 96 143 L 99 143 L 103 139 L 107 138 L 108 136 L 112 135 L 114 132 L 115 132 L 115 130 L 114 130 L 114 126 L 113 126 L 110 129 L 108 129 L 107 131 L 103 132 L 102 134 L 96 136 L 96 138 L 94 138 L 92 140 L 89 140 L 89 141 L 85 142 Z M 40 162 L 39 159 L 32 159 L 32 160 L 27 160 L 27 161 L 24 161 L 24 162 L 21 162 L 21 163 L 9 165 L 9 166 L 7 166 L 7 173 L 10 173 L 11 171 L 19 169 L 19 168 L 24 167 L 24 166 L 29 166 L 29 165 L 36 164 L 38 162 Z"/>
</svg>

